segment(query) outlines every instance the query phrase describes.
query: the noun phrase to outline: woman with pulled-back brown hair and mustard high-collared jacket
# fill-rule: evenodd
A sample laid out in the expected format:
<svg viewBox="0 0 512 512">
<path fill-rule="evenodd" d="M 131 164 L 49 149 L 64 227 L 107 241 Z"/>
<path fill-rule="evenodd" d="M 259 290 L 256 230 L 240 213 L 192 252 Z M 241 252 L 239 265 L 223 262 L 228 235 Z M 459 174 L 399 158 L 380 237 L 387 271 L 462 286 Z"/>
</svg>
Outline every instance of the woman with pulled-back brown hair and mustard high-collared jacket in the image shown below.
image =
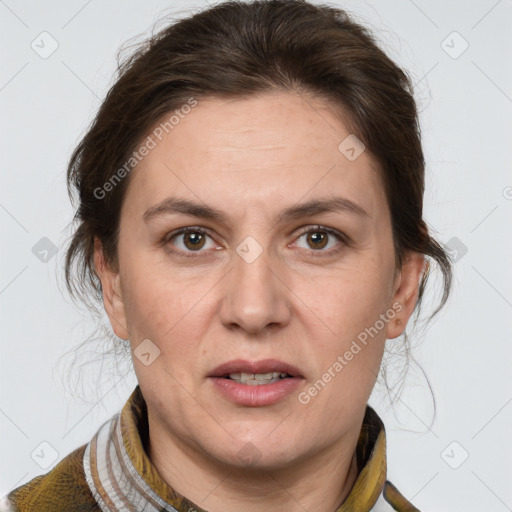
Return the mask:
<svg viewBox="0 0 512 512">
<path fill-rule="evenodd" d="M 170 25 L 68 179 L 68 285 L 103 300 L 138 386 L 12 510 L 417 510 L 367 401 L 429 261 L 439 307 L 450 262 L 410 82 L 363 27 L 300 0 Z"/>
</svg>

